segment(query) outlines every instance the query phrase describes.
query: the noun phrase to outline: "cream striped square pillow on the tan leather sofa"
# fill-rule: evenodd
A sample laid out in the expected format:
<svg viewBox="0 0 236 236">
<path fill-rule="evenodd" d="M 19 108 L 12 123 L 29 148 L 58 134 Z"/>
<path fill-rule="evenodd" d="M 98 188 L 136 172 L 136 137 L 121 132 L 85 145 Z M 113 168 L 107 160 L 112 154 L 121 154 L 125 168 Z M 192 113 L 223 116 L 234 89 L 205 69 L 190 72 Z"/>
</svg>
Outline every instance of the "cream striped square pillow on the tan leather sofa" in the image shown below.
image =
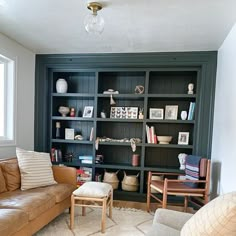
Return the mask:
<svg viewBox="0 0 236 236">
<path fill-rule="evenodd" d="M 16 148 L 21 174 L 21 190 L 56 184 L 49 153 Z"/>
</svg>

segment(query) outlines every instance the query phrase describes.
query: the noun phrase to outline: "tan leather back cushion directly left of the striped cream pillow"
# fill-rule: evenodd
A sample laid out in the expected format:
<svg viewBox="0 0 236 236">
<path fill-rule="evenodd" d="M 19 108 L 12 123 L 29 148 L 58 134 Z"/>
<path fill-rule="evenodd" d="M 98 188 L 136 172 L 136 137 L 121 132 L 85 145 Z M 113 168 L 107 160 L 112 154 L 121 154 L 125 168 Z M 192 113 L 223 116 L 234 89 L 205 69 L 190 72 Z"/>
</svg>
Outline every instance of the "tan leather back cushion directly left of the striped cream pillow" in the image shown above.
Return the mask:
<svg viewBox="0 0 236 236">
<path fill-rule="evenodd" d="M 3 175 L 6 181 L 8 191 L 14 191 L 20 188 L 20 169 L 17 159 L 4 161 L 1 163 Z"/>
</svg>

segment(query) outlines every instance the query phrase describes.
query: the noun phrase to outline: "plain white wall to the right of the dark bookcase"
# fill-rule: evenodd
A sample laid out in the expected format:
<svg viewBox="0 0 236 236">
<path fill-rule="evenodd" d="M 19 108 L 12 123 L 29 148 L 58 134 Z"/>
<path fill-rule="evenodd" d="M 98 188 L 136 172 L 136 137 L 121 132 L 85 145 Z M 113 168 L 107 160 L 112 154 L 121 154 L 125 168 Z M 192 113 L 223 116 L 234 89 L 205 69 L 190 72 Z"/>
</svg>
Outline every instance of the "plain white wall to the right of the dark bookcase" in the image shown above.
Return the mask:
<svg viewBox="0 0 236 236">
<path fill-rule="evenodd" d="M 212 143 L 214 194 L 236 190 L 236 24 L 218 51 Z"/>
</svg>

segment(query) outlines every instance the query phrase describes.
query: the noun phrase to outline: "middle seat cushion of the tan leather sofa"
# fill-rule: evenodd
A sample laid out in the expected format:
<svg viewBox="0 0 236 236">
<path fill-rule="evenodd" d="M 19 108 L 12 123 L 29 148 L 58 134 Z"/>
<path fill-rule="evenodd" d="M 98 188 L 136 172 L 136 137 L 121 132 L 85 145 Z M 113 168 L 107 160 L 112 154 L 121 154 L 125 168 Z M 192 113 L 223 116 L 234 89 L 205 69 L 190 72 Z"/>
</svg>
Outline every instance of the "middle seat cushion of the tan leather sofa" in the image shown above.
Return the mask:
<svg viewBox="0 0 236 236">
<path fill-rule="evenodd" d="M 27 191 L 15 190 L 0 194 L 0 208 L 21 209 L 32 220 L 53 207 L 55 196 L 32 189 Z"/>
</svg>

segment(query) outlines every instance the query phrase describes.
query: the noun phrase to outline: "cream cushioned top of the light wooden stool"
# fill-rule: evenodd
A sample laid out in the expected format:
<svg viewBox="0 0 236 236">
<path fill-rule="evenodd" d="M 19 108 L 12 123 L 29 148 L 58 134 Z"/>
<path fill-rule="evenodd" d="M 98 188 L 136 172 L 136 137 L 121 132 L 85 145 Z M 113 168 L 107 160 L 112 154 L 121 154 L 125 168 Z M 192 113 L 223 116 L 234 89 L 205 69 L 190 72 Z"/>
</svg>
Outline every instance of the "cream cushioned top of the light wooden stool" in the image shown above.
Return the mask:
<svg viewBox="0 0 236 236">
<path fill-rule="evenodd" d="M 73 195 L 78 197 L 102 198 L 108 197 L 111 190 L 112 186 L 110 184 L 91 181 L 84 183 L 76 189 Z"/>
</svg>

